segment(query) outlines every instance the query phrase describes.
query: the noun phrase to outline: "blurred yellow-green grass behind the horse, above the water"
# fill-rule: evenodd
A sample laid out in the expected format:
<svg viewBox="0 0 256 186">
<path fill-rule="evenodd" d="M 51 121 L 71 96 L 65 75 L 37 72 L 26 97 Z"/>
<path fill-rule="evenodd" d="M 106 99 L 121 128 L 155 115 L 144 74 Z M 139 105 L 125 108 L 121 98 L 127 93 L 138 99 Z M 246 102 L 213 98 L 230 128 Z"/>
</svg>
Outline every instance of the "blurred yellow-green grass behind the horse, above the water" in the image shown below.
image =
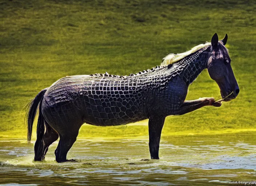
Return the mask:
<svg viewBox="0 0 256 186">
<path fill-rule="evenodd" d="M 1 0 L 0 137 L 25 138 L 23 107 L 61 77 L 136 73 L 159 65 L 168 53 L 210 41 L 215 32 L 220 39 L 228 33 L 239 96 L 220 108 L 167 117 L 163 134 L 255 130 L 255 8 L 233 0 Z M 220 98 L 206 70 L 189 87 L 187 100 L 199 97 Z M 147 133 L 147 125 L 83 125 L 79 137 Z"/>
</svg>

